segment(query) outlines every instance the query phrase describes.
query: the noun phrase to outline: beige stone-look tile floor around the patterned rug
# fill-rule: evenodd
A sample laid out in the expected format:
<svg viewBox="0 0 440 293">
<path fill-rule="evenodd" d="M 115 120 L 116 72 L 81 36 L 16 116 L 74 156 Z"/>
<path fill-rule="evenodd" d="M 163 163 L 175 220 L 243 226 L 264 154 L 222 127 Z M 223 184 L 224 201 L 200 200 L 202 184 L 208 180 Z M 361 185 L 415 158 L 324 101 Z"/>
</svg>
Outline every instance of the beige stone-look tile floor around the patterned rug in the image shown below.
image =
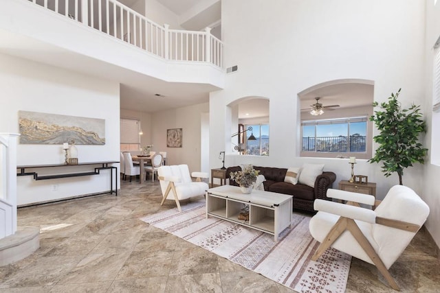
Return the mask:
<svg viewBox="0 0 440 293">
<path fill-rule="evenodd" d="M 19 209 L 40 226 L 41 247 L 0 267 L 0 292 L 292 292 L 139 220 L 160 207 L 159 183 L 122 182 L 118 197 L 93 196 Z M 440 292 L 435 246 L 420 231 L 391 267 L 402 292 Z M 353 259 L 347 292 L 395 292 L 374 266 Z"/>
</svg>

